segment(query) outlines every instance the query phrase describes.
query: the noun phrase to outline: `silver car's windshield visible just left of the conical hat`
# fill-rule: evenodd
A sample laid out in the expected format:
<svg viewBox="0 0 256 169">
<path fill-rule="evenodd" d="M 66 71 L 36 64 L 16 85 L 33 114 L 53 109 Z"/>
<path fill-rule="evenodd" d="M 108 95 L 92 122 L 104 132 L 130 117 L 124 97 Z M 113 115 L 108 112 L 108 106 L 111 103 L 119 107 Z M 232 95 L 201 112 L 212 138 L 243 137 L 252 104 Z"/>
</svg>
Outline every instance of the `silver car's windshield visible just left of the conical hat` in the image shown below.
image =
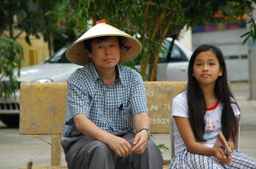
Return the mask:
<svg viewBox="0 0 256 169">
<path fill-rule="evenodd" d="M 52 57 L 48 60 L 50 63 L 70 63 L 70 61 L 66 57 L 66 50 L 70 44 L 63 46 L 58 51 L 56 51 Z"/>
</svg>

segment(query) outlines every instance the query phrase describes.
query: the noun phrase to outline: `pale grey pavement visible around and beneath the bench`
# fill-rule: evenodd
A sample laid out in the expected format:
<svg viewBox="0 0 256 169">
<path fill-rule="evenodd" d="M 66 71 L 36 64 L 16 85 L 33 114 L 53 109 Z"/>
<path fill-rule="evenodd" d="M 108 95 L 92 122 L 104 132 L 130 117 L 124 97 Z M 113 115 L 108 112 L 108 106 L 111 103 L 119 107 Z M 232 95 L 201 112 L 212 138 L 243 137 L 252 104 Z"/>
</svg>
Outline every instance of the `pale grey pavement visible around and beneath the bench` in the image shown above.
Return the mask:
<svg viewBox="0 0 256 169">
<path fill-rule="evenodd" d="M 256 159 L 256 100 L 248 100 L 248 82 L 230 86 L 241 109 L 240 151 Z M 40 137 L 51 142 L 50 135 Z M 168 134 L 154 134 L 153 140 L 170 148 Z M 164 160 L 169 160 L 169 152 L 162 152 Z M 61 164 L 67 165 L 64 154 L 61 156 Z M 50 160 L 49 144 L 32 135 L 19 135 L 18 128 L 8 128 L 0 121 L 0 169 L 26 166 L 29 161 L 33 161 L 33 166 L 47 166 Z"/>
</svg>

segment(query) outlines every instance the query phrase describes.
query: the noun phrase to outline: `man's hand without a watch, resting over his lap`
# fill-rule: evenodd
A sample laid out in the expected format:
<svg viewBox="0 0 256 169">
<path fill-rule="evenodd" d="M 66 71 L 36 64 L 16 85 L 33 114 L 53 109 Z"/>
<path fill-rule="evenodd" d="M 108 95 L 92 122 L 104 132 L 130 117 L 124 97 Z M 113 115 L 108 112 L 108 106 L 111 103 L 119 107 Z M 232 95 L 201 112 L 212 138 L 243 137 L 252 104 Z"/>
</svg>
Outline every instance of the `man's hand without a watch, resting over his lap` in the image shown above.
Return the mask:
<svg viewBox="0 0 256 169">
<path fill-rule="evenodd" d="M 124 138 L 112 135 L 109 137 L 106 144 L 108 144 L 110 149 L 116 152 L 119 157 L 125 157 L 132 154 L 132 146 Z"/>
</svg>

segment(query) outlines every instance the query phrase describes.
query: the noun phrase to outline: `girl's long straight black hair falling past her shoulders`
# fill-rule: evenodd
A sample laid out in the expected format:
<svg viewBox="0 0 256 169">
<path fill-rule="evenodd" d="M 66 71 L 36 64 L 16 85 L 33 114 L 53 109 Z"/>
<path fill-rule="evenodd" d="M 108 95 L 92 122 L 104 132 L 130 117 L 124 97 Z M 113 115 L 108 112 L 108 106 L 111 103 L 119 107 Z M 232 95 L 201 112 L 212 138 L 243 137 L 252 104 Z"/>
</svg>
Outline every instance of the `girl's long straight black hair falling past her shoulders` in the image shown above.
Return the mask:
<svg viewBox="0 0 256 169">
<path fill-rule="evenodd" d="M 215 83 L 215 95 L 220 104 L 222 105 L 222 115 L 221 115 L 221 126 L 222 132 L 226 139 L 230 136 L 235 138 L 238 133 L 238 121 L 234 116 L 232 104 L 237 104 L 227 82 L 227 71 L 226 64 L 224 61 L 224 56 L 221 50 L 213 45 L 203 44 L 199 46 L 192 54 L 189 64 L 188 64 L 188 82 L 187 82 L 187 104 L 188 104 L 188 114 L 189 121 L 198 142 L 205 142 L 203 134 L 205 131 L 205 121 L 204 115 L 206 113 L 206 102 L 204 98 L 203 90 L 200 88 L 198 81 L 196 80 L 194 73 L 194 62 L 197 55 L 204 51 L 212 51 L 215 53 L 220 69 L 222 69 L 222 76 L 219 76 Z M 238 106 L 238 105 L 237 105 Z"/>
</svg>

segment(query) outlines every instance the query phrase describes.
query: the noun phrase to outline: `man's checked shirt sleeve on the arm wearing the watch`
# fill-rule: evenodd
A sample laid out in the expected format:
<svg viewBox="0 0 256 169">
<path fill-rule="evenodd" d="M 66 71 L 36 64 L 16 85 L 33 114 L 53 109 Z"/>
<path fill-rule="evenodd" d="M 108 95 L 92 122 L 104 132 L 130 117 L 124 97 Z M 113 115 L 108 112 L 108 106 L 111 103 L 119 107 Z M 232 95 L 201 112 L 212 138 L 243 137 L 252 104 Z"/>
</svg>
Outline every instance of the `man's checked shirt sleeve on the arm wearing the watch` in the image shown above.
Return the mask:
<svg viewBox="0 0 256 169">
<path fill-rule="evenodd" d="M 137 78 L 133 84 L 131 92 L 131 109 L 133 116 L 140 112 L 147 112 L 146 89 L 141 77 Z"/>
</svg>

